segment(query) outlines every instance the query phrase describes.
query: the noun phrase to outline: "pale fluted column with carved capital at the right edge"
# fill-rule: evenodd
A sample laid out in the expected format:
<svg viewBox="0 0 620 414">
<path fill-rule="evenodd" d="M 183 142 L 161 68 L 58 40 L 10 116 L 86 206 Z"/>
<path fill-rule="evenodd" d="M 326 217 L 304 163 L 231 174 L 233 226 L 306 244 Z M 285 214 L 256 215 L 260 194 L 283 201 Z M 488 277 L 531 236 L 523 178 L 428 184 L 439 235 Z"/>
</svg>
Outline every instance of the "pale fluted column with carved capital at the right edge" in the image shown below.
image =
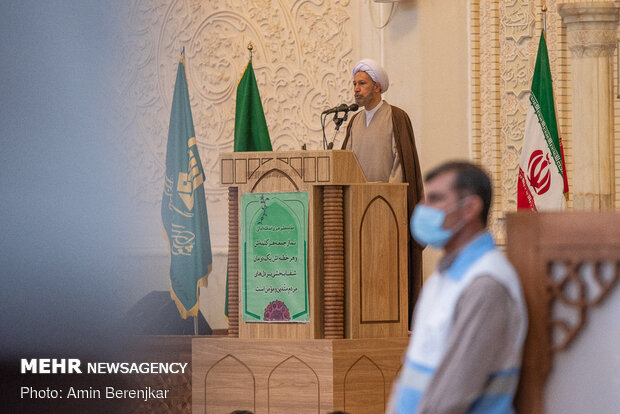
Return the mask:
<svg viewBox="0 0 620 414">
<path fill-rule="evenodd" d="M 565 3 L 572 66 L 572 139 L 575 210 L 611 210 L 614 203 L 613 55 L 618 9 L 614 2 Z"/>
</svg>

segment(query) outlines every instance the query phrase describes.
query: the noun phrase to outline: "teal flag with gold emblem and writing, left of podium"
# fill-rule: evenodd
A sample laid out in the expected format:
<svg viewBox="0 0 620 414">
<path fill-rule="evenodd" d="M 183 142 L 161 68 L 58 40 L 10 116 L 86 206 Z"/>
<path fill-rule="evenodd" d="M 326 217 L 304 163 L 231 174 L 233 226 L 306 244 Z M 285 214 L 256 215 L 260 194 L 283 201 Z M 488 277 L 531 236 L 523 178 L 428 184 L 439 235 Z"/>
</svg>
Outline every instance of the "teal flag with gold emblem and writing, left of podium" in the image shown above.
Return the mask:
<svg viewBox="0 0 620 414">
<path fill-rule="evenodd" d="M 170 296 L 183 319 L 198 314 L 198 288 L 206 286 L 213 262 L 204 179 L 181 57 L 168 130 L 161 218 L 170 249 Z"/>
</svg>

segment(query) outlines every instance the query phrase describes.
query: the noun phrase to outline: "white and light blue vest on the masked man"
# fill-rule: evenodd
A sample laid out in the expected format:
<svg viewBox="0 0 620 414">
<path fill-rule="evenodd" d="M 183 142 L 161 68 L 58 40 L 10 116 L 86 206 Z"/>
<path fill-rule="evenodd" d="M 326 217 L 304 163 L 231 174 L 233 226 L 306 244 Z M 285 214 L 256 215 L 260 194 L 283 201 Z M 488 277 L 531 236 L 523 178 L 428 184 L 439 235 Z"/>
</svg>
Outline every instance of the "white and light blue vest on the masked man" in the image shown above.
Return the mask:
<svg viewBox="0 0 620 414">
<path fill-rule="evenodd" d="M 518 276 L 495 248 L 489 233 L 476 238 L 444 273 L 435 272 L 425 282 L 416 305 L 414 332 L 401 370 L 393 408 L 398 414 L 415 413 L 424 391 L 438 368 L 448 343 L 454 310 L 463 291 L 478 276 L 489 275 L 502 283 L 521 310 L 516 349 L 521 349 L 527 330 L 527 312 Z M 483 393 L 468 413 L 512 413 L 512 400 L 520 372 L 520 355 L 509 366 L 491 373 Z"/>
</svg>

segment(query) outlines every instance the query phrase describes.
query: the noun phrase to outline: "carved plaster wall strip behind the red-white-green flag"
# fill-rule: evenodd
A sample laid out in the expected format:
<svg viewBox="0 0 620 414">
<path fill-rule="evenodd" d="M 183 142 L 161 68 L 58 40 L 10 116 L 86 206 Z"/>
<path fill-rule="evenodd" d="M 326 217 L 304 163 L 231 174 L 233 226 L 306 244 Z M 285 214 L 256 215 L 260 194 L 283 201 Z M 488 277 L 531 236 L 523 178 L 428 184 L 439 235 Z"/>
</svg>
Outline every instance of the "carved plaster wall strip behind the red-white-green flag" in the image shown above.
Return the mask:
<svg viewBox="0 0 620 414">
<path fill-rule="evenodd" d="M 556 110 L 570 174 L 571 151 L 566 145 L 570 112 L 566 110 L 565 92 L 570 73 L 556 1 L 546 3 Z M 495 199 L 490 227 L 498 242 L 503 243 L 505 214 L 517 206 L 519 155 L 542 12 L 539 3 L 527 0 L 471 0 L 470 10 L 472 154 L 492 175 Z"/>
</svg>

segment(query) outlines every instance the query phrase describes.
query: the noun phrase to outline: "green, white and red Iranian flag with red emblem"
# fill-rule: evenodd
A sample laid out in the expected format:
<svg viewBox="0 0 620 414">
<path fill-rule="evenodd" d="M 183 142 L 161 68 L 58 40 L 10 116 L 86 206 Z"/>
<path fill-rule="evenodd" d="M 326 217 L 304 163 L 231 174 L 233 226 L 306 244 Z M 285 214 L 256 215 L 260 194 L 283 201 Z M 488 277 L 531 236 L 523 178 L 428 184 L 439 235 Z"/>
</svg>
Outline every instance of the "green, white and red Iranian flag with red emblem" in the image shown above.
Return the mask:
<svg viewBox="0 0 620 414">
<path fill-rule="evenodd" d="M 564 194 L 568 193 L 568 180 L 551 83 L 549 55 L 543 30 L 538 45 L 523 148 L 519 158 L 518 209 L 542 211 L 566 208 Z"/>
</svg>

